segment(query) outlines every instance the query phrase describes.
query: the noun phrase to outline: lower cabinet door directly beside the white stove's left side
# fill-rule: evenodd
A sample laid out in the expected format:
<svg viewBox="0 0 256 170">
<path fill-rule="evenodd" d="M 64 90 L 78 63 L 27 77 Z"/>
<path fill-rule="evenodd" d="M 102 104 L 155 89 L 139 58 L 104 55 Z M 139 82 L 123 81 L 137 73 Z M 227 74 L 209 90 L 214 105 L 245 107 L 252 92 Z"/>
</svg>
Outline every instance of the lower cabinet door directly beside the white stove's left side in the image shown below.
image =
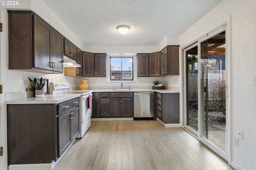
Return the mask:
<svg viewBox="0 0 256 170">
<path fill-rule="evenodd" d="M 72 109 L 71 112 L 71 140 L 76 140 L 76 135 L 79 133 L 79 106 Z"/>
</svg>

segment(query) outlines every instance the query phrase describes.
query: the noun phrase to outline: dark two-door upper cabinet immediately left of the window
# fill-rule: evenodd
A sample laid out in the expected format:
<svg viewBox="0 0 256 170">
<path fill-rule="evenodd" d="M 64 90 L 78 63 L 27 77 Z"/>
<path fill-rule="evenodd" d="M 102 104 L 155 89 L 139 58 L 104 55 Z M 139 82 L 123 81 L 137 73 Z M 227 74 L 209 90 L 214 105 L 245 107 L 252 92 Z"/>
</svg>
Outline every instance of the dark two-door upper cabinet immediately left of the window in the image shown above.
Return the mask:
<svg viewBox="0 0 256 170">
<path fill-rule="evenodd" d="M 83 76 L 106 77 L 106 53 L 83 52 Z"/>
</svg>

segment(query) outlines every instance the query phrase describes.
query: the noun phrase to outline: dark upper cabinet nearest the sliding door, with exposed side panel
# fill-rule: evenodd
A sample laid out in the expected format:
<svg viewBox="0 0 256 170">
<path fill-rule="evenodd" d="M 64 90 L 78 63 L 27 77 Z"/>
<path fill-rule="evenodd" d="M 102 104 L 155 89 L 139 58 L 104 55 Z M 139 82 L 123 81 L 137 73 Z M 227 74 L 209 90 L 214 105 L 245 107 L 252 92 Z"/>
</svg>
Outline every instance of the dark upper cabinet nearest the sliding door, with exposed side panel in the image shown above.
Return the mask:
<svg viewBox="0 0 256 170">
<path fill-rule="evenodd" d="M 179 75 L 179 45 L 168 45 L 160 52 L 160 75 Z"/>
</svg>

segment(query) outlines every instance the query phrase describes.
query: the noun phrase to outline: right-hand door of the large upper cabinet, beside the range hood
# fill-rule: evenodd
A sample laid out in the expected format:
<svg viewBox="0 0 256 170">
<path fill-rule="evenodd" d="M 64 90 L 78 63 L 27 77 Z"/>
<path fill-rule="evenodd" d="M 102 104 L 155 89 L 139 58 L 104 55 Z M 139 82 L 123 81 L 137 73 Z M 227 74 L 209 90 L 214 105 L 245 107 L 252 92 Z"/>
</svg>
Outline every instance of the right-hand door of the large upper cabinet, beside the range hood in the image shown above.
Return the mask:
<svg viewBox="0 0 256 170">
<path fill-rule="evenodd" d="M 53 71 L 58 71 L 63 73 L 63 36 L 52 29 L 52 63 L 53 63 Z"/>
</svg>

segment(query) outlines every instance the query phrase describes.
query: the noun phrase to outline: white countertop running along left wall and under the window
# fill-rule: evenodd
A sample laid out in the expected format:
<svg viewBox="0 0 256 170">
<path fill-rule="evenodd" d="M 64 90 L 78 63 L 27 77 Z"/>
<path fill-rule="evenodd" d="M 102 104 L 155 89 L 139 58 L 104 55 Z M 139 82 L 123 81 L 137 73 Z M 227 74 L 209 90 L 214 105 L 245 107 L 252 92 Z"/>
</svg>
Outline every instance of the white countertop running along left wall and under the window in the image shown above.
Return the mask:
<svg viewBox="0 0 256 170">
<path fill-rule="evenodd" d="M 85 90 L 85 91 L 70 91 L 68 94 L 55 94 L 55 95 L 45 95 L 44 97 L 24 97 L 20 99 L 10 99 L 6 100 L 5 104 L 57 104 L 64 101 L 80 97 L 81 95 L 86 95 L 92 92 L 143 92 L 143 91 L 153 91 L 158 93 L 180 93 L 174 90 L 153 90 L 153 89 L 98 89 L 98 90 Z M 13 93 L 12 95 L 15 95 Z"/>
</svg>

